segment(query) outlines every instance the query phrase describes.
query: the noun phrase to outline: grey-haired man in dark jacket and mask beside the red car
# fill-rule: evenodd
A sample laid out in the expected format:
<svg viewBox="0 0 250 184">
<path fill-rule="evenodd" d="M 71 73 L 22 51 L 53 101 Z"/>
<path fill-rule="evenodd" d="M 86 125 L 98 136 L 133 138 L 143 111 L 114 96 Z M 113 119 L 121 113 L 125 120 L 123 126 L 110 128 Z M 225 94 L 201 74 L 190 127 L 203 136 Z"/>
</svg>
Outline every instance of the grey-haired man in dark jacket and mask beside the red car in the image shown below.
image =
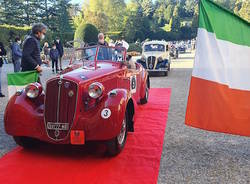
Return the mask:
<svg viewBox="0 0 250 184">
<path fill-rule="evenodd" d="M 40 40 L 43 40 L 47 31 L 47 27 L 42 24 L 34 24 L 32 27 L 32 33 L 29 35 L 23 44 L 22 55 L 22 71 L 37 70 L 42 72 L 40 57 Z"/>
</svg>

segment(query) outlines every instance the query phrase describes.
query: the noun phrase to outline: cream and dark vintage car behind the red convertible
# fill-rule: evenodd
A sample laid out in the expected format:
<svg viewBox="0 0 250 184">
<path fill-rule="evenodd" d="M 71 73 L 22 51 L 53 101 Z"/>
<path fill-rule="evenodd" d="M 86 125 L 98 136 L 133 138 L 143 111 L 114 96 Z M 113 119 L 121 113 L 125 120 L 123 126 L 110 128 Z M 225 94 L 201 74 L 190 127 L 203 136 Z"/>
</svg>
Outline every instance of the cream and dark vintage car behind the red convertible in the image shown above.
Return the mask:
<svg viewBox="0 0 250 184">
<path fill-rule="evenodd" d="M 167 76 L 171 63 L 168 43 L 157 40 L 145 42 L 142 46 L 142 57 L 137 62 L 149 72 L 164 72 Z"/>
</svg>

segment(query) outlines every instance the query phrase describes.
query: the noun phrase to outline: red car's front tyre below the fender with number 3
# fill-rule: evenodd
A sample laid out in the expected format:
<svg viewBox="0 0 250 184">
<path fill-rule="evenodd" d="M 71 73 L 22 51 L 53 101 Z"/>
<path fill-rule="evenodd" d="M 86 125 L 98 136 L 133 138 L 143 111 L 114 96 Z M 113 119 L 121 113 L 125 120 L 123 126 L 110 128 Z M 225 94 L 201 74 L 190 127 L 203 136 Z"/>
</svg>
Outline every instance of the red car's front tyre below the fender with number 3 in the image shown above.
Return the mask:
<svg viewBox="0 0 250 184">
<path fill-rule="evenodd" d="M 107 141 L 106 143 L 108 156 L 116 156 L 123 150 L 127 140 L 129 125 L 128 121 L 128 111 L 126 110 L 124 119 L 122 121 L 122 128 L 120 130 L 120 133 L 115 138 Z"/>
</svg>

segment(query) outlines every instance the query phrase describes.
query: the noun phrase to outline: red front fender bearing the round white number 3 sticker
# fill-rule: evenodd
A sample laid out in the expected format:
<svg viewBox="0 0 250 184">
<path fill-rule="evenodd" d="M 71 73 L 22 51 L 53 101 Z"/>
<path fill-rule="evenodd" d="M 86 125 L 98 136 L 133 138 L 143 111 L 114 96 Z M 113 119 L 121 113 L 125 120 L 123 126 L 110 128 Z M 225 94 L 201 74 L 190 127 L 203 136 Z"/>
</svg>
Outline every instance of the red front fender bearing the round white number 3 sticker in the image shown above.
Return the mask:
<svg viewBox="0 0 250 184">
<path fill-rule="evenodd" d="M 73 129 L 83 129 L 86 140 L 112 139 L 120 133 L 127 105 L 131 101 L 134 105 L 135 100 L 126 89 L 108 91 L 95 108 L 80 115 Z M 105 117 L 103 112 L 106 110 L 108 116 Z"/>
</svg>

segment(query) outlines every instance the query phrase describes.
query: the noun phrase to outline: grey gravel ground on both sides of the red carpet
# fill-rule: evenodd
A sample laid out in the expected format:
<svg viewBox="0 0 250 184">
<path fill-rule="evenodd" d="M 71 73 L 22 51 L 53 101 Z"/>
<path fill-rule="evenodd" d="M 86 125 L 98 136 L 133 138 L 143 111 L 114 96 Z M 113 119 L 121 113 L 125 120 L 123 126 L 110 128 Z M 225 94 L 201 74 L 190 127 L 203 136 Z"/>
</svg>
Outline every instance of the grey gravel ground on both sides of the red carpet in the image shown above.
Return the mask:
<svg viewBox="0 0 250 184">
<path fill-rule="evenodd" d="M 172 63 L 168 77 L 151 77 L 152 87 L 172 88 L 164 138 L 159 184 L 165 183 L 250 183 L 250 139 L 194 129 L 184 125 L 193 53 L 182 54 Z M 13 66 L 5 65 L 3 73 Z M 51 76 L 44 67 L 42 81 Z M 7 94 L 6 75 L 2 88 Z M 0 157 L 16 144 L 3 128 L 7 98 L 0 99 Z"/>
</svg>

